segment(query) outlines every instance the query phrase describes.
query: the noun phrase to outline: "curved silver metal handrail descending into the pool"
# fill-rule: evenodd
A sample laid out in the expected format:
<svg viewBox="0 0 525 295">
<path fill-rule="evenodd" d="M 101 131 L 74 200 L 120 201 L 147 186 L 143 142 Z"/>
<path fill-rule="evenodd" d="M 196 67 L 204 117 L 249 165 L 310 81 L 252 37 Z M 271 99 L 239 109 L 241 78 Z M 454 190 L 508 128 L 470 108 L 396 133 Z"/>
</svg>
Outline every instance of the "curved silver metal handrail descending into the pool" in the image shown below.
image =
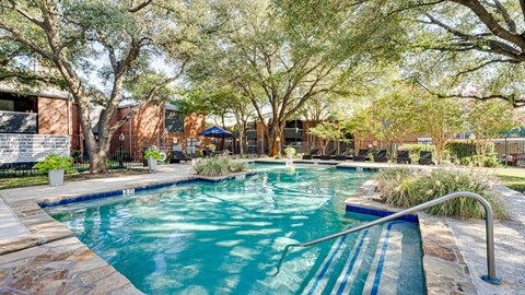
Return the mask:
<svg viewBox="0 0 525 295">
<path fill-rule="evenodd" d="M 316 244 L 319 244 L 319 243 L 323 243 L 323 241 L 327 241 L 327 240 L 330 240 L 330 239 L 334 239 L 334 238 L 337 238 L 337 237 L 340 237 L 340 236 L 345 236 L 345 235 L 348 235 L 348 234 L 351 234 L 351 233 L 355 233 L 355 232 L 362 231 L 364 228 L 369 228 L 369 227 L 372 227 L 374 225 L 378 225 L 378 224 L 382 224 L 384 222 L 392 221 L 392 220 L 398 219 L 400 216 L 404 216 L 404 215 L 407 215 L 407 214 L 427 209 L 429 206 L 433 206 L 433 205 L 439 204 L 439 203 L 450 201 L 452 199 L 460 198 L 460 197 L 472 198 L 476 201 L 480 202 L 485 208 L 488 275 L 483 275 L 483 276 L 481 276 L 481 279 L 483 281 L 488 282 L 488 283 L 499 285 L 499 284 L 501 284 L 501 280 L 495 278 L 494 224 L 493 224 L 494 223 L 494 221 L 493 221 L 494 220 L 494 216 L 493 216 L 494 214 L 492 212 L 492 206 L 490 205 L 490 203 L 483 197 L 481 197 L 477 193 L 474 193 L 474 192 L 469 192 L 469 191 L 452 192 L 452 193 L 445 194 L 443 197 L 440 197 L 438 199 L 434 199 L 434 200 L 424 202 L 422 204 L 415 205 L 415 206 L 409 208 L 407 210 L 394 213 L 392 215 L 388 215 L 388 216 L 385 216 L 385 217 L 382 217 L 382 219 L 378 219 L 378 220 L 375 220 L 375 221 L 372 221 L 372 222 L 369 222 L 369 223 L 365 223 L 365 224 L 362 224 L 362 225 L 359 225 L 359 226 L 355 226 L 355 227 L 352 227 L 352 228 L 349 228 L 349 229 L 346 229 L 346 231 L 342 231 L 342 232 L 339 232 L 339 233 L 336 233 L 336 234 L 332 234 L 332 235 L 328 235 L 328 236 L 325 236 L 325 237 L 322 237 L 322 238 L 317 238 L 317 239 L 310 240 L 310 241 L 302 243 L 302 244 L 289 244 L 284 247 L 281 259 L 279 260 L 279 264 L 277 266 L 277 272 L 273 275 L 277 275 L 280 272 L 282 262 L 284 261 L 284 258 L 285 258 L 285 256 L 287 256 L 287 253 L 288 253 L 288 251 L 291 247 L 305 248 L 305 247 L 316 245 Z"/>
</svg>

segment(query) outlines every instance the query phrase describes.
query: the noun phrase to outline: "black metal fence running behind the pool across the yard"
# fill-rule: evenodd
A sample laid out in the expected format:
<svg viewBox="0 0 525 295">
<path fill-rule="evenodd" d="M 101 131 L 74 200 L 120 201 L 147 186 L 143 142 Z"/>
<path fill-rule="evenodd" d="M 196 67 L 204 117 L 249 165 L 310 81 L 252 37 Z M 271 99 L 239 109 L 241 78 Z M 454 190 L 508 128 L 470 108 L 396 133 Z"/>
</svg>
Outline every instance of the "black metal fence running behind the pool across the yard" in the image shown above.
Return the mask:
<svg viewBox="0 0 525 295">
<path fill-rule="evenodd" d="M 525 139 L 498 139 L 493 140 L 493 145 L 488 154 L 494 156 L 501 164 L 510 166 L 525 167 Z M 215 140 L 218 149 L 228 150 L 234 155 L 240 154 L 240 141 L 238 140 Z M 457 144 L 456 144 L 457 143 Z M 470 158 L 472 161 L 476 156 L 476 145 L 474 141 L 457 141 L 456 143 L 448 144 L 445 152 L 445 160 L 460 161 L 464 158 Z M 119 138 L 115 135 L 112 140 L 110 151 L 108 156 L 108 167 L 110 169 L 138 167 L 144 165 L 143 152 L 150 146 L 156 146 L 159 150 L 166 152 L 168 156 L 176 146 L 183 149 L 188 155 L 200 156 L 200 151 L 205 148 L 196 145 L 192 148 L 192 152 L 189 152 L 186 146 L 186 142 L 183 139 L 163 139 L 158 137 L 124 137 Z M 249 140 L 244 141 L 244 156 L 257 157 L 267 155 L 269 152 L 269 144 L 267 140 Z M 431 149 L 429 141 L 408 141 L 401 144 L 387 143 L 383 141 L 363 141 L 360 146 L 355 146 L 353 141 L 348 142 L 330 142 L 325 149 L 325 153 L 332 152 L 334 154 L 341 154 L 343 152 L 350 152 L 350 155 L 354 155 L 359 150 L 368 150 L 374 152 L 377 149 L 385 149 L 392 156 L 396 157 L 397 151 L 410 150 L 418 145 L 427 145 Z M 313 149 L 319 149 L 318 141 L 312 142 L 288 142 L 283 143 L 281 151 L 284 151 L 287 146 L 295 149 L 296 153 L 307 154 Z M 323 153 L 319 149 L 319 153 Z M 89 169 L 89 154 L 85 150 L 85 143 L 81 135 L 71 137 L 71 156 L 73 157 L 72 169 L 78 172 L 85 172 Z M 2 177 L 18 177 L 27 175 L 37 175 L 39 172 L 33 169 L 33 165 L 36 163 L 11 163 L 0 164 L 0 178 Z"/>
</svg>

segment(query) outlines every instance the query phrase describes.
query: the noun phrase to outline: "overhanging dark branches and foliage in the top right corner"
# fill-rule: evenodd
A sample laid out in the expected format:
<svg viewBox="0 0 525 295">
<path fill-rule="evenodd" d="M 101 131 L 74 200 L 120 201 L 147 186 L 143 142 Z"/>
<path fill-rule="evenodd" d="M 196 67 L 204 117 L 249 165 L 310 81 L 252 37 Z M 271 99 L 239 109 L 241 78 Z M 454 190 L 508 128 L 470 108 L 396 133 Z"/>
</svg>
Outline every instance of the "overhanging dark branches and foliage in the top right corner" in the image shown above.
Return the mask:
<svg viewBox="0 0 525 295">
<path fill-rule="evenodd" d="M 409 0 L 393 11 L 408 15 L 407 61 L 429 92 L 525 105 L 524 1 Z"/>
</svg>

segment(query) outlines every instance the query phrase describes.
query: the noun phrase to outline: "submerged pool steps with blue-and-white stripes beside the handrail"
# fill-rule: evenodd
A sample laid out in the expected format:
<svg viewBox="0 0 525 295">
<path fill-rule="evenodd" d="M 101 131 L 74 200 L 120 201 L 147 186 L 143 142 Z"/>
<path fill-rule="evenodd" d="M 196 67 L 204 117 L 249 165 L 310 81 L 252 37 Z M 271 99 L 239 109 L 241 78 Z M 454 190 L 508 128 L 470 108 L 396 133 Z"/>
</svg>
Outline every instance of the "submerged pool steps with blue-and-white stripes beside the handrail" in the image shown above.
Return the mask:
<svg viewBox="0 0 525 295">
<path fill-rule="evenodd" d="M 404 237 L 394 229 L 401 223 L 337 239 L 302 294 L 396 294 Z"/>
</svg>

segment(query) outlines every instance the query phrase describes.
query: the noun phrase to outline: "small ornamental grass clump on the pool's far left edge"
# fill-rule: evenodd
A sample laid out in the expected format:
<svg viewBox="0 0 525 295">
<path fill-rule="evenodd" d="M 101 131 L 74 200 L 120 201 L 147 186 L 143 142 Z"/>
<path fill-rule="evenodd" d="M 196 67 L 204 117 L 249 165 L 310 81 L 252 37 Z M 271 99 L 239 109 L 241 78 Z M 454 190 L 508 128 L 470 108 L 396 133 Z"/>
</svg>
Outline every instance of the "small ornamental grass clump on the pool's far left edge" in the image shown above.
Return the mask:
<svg viewBox="0 0 525 295">
<path fill-rule="evenodd" d="M 230 173 L 238 173 L 247 169 L 247 165 L 242 161 L 234 161 L 230 157 L 201 158 L 194 164 L 194 170 L 197 175 L 217 177 L 225 176 Z"/>
</svg>

